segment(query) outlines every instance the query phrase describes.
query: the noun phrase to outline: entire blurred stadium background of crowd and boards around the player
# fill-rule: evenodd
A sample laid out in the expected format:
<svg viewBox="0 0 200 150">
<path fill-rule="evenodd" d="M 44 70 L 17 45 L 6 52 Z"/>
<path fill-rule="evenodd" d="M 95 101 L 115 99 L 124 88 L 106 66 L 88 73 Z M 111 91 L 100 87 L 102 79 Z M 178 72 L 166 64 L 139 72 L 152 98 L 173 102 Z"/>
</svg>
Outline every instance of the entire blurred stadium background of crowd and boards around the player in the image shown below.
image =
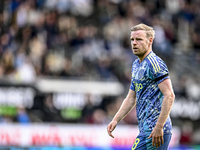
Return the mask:
<svg viewBox="0 0 200 150">
<path fill-rule="evenodd" d="M 0 149 L 131 149 L 135 109 L 114 139 L 106 126 L 130 86 L 139 23 L 156 31 L 176 95 L 170 149 L 200 149 L 199 0 L 0 0 Z"/>
</svg>

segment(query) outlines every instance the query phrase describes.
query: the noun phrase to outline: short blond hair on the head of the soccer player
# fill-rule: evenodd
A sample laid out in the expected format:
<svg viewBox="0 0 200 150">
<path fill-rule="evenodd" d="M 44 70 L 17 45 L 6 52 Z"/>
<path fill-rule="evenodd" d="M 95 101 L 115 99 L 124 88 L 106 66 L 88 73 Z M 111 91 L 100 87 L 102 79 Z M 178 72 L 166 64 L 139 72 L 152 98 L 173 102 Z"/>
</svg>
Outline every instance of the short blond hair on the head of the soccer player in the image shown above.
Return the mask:
<svg viewBox="0 0 200 150">
<path fill-rule="evenodd" d="M 143 24 L 143 23 L 140 23 L 140 24 L 138 24 L 136 26 L 133 26 L 131 28 L 131 32 L 132 31 L 137 31 L 137 30 L 144 30 L 144 31 L 146 31 L 147 38 L 152 37 L 154 39 L 154 37 L 155 37 L 155 31 L 154 31 L 154 29 L 152 27 L 150 27 L 150 26 L 147 26 L 147 25 Z"/>
</svg>

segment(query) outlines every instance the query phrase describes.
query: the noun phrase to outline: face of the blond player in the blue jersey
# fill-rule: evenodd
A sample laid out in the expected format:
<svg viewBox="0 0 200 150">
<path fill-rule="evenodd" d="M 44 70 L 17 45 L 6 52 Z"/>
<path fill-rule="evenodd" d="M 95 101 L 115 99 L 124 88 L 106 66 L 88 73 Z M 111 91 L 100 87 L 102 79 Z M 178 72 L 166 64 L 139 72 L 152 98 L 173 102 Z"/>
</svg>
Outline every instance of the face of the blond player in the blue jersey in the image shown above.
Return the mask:
<svg viewBox="0 0 200 150">
<path fill-rule="evenodd" d="M 144 30 L 131 31 L 131 46 L 133 54 L 142 57 L 151 45 L 150 39 L 147 39 Z"/>
</svg>

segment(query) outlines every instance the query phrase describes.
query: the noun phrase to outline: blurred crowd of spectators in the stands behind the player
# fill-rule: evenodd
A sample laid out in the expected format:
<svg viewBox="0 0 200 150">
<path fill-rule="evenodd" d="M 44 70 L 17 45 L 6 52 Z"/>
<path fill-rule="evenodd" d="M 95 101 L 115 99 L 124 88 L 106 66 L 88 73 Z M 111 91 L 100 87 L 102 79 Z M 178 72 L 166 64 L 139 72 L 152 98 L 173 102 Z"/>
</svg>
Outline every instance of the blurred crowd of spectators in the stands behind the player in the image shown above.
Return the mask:
<svg viewBox="0 0 200 150">
<path fill-rule="evenodd" d="M 172 64 L 181 51 L 200 65 L 199 0 L 1 0 L 0 79 L 33 83 L 39 76 L 53 76 L 114 80 L 128 87 L 136 59 L 130 28 L 141 22 L 156 32 L 153 50 L 177 79 L 175 92 L 199 99 L 198 78 L 176 76 Z M 110 103 L 105 98 L 98 107 L 88 102 L 79 121 L 107 123 L 122 101 L 108 99 Z M 49 111 L 58 113 L 55 108 Z M 31 121 L 24 108 L 17 112 L 18 122 Z M 135 110 L 130 115 L 135 116 Z M 129 116 L 124 121 L 137 123 Z"/>
</svg>

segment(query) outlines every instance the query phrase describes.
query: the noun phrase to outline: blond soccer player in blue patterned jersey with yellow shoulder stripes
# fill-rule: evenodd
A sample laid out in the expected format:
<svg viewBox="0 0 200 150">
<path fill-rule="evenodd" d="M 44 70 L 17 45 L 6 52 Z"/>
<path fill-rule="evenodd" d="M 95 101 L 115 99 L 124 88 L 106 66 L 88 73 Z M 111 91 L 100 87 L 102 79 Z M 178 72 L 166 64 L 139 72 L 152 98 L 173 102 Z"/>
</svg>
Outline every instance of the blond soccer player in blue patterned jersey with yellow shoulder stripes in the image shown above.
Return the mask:
<svg viewBox="0 0 200 150">
<path fill-rule="evenodd" d="M 145 24 L 131 28 L 132 51 L 138 59 L 132 65 L 129 92 L 107 126 L 114 138 L 117 123 L 136 105 L 140 132 L 132 150 L 167 150 L 172 136 L 169 113 L 175 95 L 166 64 L 152 51 L 154 35 L 153 28 Z"/>
</svg>

